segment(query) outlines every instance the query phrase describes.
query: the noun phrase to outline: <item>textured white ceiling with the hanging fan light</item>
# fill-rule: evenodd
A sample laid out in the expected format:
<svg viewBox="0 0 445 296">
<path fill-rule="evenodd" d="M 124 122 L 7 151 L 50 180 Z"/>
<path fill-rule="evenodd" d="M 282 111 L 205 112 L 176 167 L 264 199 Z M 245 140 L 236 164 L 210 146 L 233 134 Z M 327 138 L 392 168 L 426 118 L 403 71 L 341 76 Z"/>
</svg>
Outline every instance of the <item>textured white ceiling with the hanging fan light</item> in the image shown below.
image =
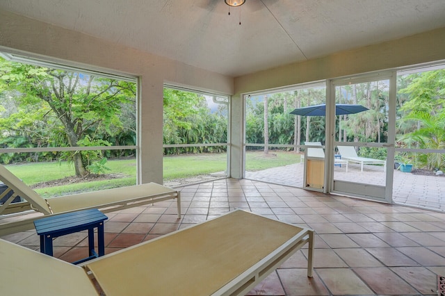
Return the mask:
<svg viewBox="0 0 445 296">
<path fill-rule="evenodd" d="M 0 9 L 229 76 L 445 27 L 445 0 L 1 0 Z M 2 28 L 3 29 L 3 28 Z"/>
</svg>

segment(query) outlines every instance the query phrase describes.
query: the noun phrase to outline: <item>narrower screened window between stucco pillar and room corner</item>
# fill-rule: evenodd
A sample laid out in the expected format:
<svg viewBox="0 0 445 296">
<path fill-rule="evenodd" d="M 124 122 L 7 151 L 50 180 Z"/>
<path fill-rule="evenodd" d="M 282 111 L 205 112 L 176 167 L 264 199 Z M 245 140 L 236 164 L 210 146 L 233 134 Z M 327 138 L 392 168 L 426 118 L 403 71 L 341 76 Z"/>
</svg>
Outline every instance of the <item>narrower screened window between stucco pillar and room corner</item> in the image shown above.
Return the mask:
<svg viewBox="0 0 445 296">
<path fill-rule="evenodd" d="M 227 176 L 229 97 L 164 88 L 163 181 L 166 186 Z"/>
</svg>

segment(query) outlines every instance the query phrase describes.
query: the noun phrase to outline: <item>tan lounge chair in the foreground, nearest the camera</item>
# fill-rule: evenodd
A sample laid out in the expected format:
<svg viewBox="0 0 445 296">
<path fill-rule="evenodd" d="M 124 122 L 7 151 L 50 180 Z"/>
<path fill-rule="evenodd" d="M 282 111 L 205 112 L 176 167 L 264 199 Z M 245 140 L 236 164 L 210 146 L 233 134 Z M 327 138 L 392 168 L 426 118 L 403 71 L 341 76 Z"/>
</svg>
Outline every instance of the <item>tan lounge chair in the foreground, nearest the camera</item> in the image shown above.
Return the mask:
<svg viewBox="0 0 445 296">
<path fill-rule="evenodd" d="M 245 295 L 306 244 L 312 277 L 312 229 L 241 210 L 81 266 L 0 239 L 0 290 L 8 296 Z"/>
</svg>

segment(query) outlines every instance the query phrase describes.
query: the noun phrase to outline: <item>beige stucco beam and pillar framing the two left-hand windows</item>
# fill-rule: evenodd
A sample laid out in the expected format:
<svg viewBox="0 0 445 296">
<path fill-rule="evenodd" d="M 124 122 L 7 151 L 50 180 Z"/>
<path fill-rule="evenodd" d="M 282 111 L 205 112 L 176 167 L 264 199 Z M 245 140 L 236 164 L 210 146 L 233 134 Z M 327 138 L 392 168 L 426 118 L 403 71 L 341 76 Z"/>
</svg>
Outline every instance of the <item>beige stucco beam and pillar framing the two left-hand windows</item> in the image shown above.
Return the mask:
<svg viewBox="0 0 445 296">
<path fill-rule="evenodd" d="M 0 10 L 0 47 L 140 77 L 140 179 L 162 183 L 163 83 L 234 92 L 232 77 Z M 1 48 L 0 48 L 1 49 Z"/>
</svg>

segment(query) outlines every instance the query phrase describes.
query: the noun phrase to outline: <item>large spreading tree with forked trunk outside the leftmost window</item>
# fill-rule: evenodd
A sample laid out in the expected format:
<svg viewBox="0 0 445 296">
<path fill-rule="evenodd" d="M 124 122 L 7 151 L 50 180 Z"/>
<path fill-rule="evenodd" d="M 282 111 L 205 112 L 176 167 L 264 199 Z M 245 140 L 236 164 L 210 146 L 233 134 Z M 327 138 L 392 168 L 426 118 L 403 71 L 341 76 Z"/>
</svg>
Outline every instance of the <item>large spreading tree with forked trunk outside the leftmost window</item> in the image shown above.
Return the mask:
<svg viewBox="0 0 445 296">
<path fill-rule="evenodd" d="M 96 135 L 113 134 L 112 126 L 122 126 L 122 104 L 136 101 L 134 83 L 6 60 L 0 60 L 0 85 L 0 89 L 15 91 L 15 100 L 22 110 L 41 106 L 32 115 L 33 121 L 49 123 L 44 130 L 52 140 L 61 135 L 61 127 L 70 147 L 111 145 Z M 29 126 L 29 115 L 18 113 L 15 120 Z M 76 176 L 86 176 L 95 154 L 75 151 L 64 153 L 63 157 L 74 164 Z"/>
</svg>

